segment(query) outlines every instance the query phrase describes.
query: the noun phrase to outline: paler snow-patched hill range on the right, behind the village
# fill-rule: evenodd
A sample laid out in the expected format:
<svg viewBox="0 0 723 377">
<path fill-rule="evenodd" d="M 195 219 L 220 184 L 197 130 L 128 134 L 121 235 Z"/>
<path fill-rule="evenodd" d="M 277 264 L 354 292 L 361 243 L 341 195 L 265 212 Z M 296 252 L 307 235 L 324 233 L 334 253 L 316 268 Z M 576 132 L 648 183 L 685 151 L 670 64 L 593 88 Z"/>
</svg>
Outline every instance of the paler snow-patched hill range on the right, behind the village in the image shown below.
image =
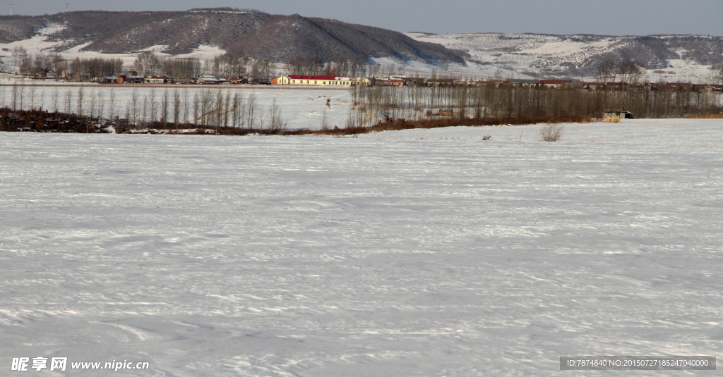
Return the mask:
<svg viewBox="0 0 723 377">
<path fill-rule="evenodd" d="M 602 61 L 627 58 L 643 63 L 651 81 L 709 82 L 711 68 L 723 66 L 723 38 L 708 35 L 407 35 L 537 77 L 594 77 Z"/>
</svg>

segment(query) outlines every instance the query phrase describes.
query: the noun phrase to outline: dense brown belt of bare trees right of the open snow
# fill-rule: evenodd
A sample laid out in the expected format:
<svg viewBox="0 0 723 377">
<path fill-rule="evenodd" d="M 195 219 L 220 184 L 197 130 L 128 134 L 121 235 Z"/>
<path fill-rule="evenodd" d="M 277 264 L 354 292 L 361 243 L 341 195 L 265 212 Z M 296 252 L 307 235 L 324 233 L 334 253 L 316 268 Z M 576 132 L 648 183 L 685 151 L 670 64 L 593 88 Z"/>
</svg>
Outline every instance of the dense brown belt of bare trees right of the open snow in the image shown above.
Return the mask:
<svg viewBox="0 0 723 377">
<path fill-rule="evenodd" d="M 540 87 L 351 87 L 348 126 L 385 118 L 599 118 L 603 110 L 626 108 L 636 118 L 683 118 L 722 113 L 715 92 L 579 90 Z M 440 112 L 440 110 L 442 110 Z"/>
</svg>

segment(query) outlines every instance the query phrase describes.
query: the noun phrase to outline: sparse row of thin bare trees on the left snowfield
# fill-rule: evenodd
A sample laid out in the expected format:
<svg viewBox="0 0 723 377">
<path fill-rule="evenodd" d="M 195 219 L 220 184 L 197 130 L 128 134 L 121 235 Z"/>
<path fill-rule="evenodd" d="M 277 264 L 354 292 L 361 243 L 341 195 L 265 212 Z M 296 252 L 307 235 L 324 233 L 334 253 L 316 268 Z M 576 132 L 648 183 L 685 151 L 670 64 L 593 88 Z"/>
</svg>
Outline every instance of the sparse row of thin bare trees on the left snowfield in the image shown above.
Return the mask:
<svg viewBox="0 0 723 377">
<path fill-rule="evenodd" d="M 15 111 L 37 110 L 48 106 L 48 110 L 74 113 L 90 118 L 123 118 L 136 129 L 148 126 L 163 128 L 216 128 L 286 130 L 286 120 L 281 115 L 281 106 L 274 99 L 268 106 L 257 100 L 254 93 L 223 92 L 220 89 L 196 91 L 193 96 L 188 90 L 164 90 L 155 88 L 141 94 L 135 88 L 125 104 L 119 103 L 115 91 L 87 87 L 67 88 L 61 92 L 54 88 L 49 98 L 46 92 L 35 86 L 12 85 L 9 92 L 0 90 L 0 107 Z M 49 100 L 49 103 L 47 103 Z"/>
</svg>

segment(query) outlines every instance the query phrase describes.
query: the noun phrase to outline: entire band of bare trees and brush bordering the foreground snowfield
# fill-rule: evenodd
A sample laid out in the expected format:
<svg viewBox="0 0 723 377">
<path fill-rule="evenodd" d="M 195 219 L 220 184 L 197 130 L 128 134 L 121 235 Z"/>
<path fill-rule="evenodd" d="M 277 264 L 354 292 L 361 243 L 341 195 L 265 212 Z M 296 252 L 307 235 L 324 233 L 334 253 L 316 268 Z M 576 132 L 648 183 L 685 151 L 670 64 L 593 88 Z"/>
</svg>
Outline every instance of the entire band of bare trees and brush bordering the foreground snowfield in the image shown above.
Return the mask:
<svg viewBox="0 0 723 377">
<path fill-rule="evenodd" d="M 482 126 L 560 121 L 589 121 L 607 109 L 626 108 L 636 118 L 684 118 L 723 113 L 715 92 L 651 92 L 544 89 L 540 87 L 351 87 L 346 125 L 331 128 L 322 117 L 319 130 L 288 131 L 283 108 L 263 105 L 243 92 L 132 91 L 126 103 L 95 88 L 50 97 L 52 111 L 36 109 L 44 95 L 35 87 L 13 85 L 0 91 L 1 131 L 116 132 L 213 129 L 218 134 L 356 134 L 383 129 Z M 25 110 L 30 108 L 30 110 Z M 153 131 L 157 132 L 157 131 Z M 202 131 L 205 132 L 205 131 Z"/>
</svg>

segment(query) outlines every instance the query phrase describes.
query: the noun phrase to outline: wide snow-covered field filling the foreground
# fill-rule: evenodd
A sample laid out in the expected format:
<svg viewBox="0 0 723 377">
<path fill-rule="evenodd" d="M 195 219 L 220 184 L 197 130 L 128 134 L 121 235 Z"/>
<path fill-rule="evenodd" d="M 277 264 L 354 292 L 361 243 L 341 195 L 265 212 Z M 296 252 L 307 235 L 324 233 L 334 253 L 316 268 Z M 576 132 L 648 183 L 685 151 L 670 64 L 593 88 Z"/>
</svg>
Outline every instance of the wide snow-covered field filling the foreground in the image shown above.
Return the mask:
<svg viewBox="0 0 723 377">
<path fill-rule="evenodd" d="M 537 129 L 1 133 L 0 375 L 561 376 L 560 355 L 720 356 L 723 120 Z M 10 371 L 37 356 L 68 371 Z"/>
</svg>

